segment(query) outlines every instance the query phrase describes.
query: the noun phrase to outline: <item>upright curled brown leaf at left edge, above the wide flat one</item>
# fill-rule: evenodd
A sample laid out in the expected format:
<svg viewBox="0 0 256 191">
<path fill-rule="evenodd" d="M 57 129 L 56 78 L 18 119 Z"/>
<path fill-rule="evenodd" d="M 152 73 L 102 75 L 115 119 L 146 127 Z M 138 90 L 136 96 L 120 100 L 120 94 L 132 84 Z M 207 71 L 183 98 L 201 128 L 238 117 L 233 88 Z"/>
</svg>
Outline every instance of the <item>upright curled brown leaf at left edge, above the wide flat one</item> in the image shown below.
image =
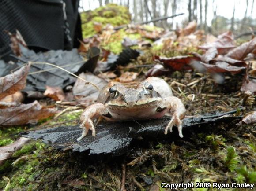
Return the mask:
<svg viewBox="0 0 256 191">
<path fill-rule="evenodd" d="M 14 73 L 0 78 L 0 100 L 26 87 L 26 76 L 29 70 L 30 65 L 28 64 Z"/>
</svg>

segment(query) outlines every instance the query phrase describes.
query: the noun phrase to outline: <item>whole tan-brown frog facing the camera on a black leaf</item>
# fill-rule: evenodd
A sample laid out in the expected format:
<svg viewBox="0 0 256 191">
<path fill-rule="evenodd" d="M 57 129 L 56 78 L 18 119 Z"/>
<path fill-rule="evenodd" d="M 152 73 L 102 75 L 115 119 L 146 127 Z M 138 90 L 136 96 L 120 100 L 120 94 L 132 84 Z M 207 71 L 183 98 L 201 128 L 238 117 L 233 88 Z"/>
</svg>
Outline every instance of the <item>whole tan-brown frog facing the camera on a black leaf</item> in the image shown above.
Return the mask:
<svg viewBox="0 0 256 191">
<path fill-rule="evenodd" d="M 89 129 L 95 136 L 93 121 L 102 116 L 107 121 L 129 121 L 141 119 L 161 118 L 166 112 L 171 112 L 172 118 L 166 126 L 172 132 L 173 125 L 177 125 L 179 136 L 182 138 L 182 123 L 185 107 L 181 99 L 174 97 L 166 81 L 158 77 L 148 77 L 142 82 L 121 84 L 110 82 L 100 91 L 98 103 L 88 106 L 80 116 L 83 129 L 81 140 Z"/>
</svg>

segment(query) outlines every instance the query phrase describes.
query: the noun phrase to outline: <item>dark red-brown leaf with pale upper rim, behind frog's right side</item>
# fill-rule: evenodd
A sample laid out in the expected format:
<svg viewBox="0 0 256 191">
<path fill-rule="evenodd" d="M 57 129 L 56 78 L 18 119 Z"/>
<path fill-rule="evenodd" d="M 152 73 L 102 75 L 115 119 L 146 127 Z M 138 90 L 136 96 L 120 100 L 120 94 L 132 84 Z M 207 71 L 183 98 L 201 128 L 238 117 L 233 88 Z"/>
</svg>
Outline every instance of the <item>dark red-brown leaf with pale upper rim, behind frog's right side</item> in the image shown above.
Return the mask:
<svg viewBox="0 0 256 191">
<path fill-rule="evenodd" d="M 201 59 L 196 56 L 175 56 L 171 58 L 154 56 L 154 60 L 163 62 L 166 67 L 173 70 L 189 70 L 191 69 L 189 63 L 192 61 L 200 61 Z"/>
</svg>

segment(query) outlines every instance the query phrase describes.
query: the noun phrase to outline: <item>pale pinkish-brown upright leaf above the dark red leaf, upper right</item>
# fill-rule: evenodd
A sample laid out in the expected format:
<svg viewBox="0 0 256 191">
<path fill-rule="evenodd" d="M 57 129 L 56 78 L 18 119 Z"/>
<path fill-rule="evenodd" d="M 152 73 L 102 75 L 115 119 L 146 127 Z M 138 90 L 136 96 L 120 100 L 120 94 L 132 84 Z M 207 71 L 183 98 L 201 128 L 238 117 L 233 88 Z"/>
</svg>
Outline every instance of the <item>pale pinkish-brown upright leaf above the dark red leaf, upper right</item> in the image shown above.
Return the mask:
<svg viewBox="0 0 256 191">
<path fill-rule="evenodd" d="M 219 54 L 226 54 L 228 51 L 236 47 L 236 44 L 234 43 L 233 40 L 233 33 L 231 31 L 228 31 L 226 33 L 219 35 L 217 40 L 215 40 L 214 42 L 203 44 L 198 48 L 208 50 L 210 48 L 215 47 L 217 48 Z"/>
</svg>

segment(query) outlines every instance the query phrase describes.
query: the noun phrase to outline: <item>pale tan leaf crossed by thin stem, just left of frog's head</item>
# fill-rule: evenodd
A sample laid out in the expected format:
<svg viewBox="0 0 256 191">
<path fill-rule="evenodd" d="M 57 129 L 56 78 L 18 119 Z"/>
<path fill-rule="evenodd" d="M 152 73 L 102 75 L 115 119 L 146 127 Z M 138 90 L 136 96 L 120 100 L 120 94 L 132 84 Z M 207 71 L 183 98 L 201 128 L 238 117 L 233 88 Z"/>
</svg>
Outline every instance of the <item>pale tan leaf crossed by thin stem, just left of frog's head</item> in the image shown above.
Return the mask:
<svg viewBox="0 0 256 191">
<path fill-rule="evenodd" d="M 82 77 L 86 81 L 90 81 L 91 83 L 94 83 L 100 89 L 102 89 L 105 86 L 105 84 L 107 84 L 105 80 L 95 76 L 92 73 L 81 73 L 79 77 Z M 85 83 L 86 83 L 85 81 L 82 81 L 80 79 L 76 80 L 75 85 L 72 89 L 75 99 L 79 103 L 88 103 L 88 102 L 96 101 L 99 94 L 98 89 L 96 89 L 94 86 L 90 84 L 85 84 Z"/>
</svg>

